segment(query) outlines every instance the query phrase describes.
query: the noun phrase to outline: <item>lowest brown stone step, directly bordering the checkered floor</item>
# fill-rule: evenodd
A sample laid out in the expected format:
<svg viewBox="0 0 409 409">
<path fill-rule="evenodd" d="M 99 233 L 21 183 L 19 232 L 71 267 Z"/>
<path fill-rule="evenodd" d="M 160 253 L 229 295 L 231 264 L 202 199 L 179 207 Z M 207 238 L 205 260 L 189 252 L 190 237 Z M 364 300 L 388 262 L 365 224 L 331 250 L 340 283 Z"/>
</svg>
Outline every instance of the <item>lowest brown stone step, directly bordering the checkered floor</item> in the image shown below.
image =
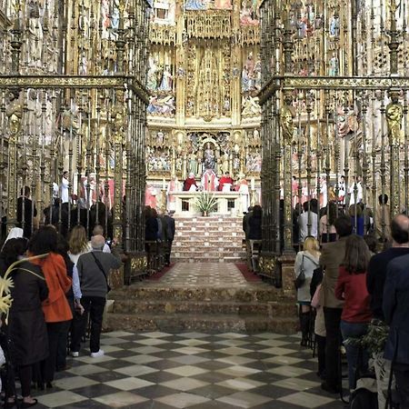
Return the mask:
<svg viewBox="0 0 409 409">
<path fill-rule="evenodd" d="M 170 333 L 245 333 L 274 332 L 294 334 L 297 318 L 260 317 L 254 315 L 205 315 L 205 314 L 107 314 L 107 330 L 162 331 Z"/>
</svg>

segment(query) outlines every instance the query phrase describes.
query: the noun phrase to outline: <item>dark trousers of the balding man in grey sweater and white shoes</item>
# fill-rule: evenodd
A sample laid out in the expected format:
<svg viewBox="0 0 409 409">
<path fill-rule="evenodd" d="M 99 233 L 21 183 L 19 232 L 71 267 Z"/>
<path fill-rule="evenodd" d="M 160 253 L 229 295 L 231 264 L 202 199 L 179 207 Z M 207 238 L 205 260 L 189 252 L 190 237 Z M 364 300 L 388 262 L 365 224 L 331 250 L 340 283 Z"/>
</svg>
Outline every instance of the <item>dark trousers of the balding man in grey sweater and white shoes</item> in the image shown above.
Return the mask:
<svg viewBox="0 0 409 409">
<path fill-rule="evenodd" d="M 81 338 L 85 334 L 86 324 L 88 323 L 88 314 L 91 320 L 91 336 L 89 349 L 92 353 L 99 351 L 99 341 L 102 331 L 102 322 L 105 309 L 105 297 L 86 297 L 81 298 L 84 314 L 75 314 L 73 321 L 73 334 L 71 341 L 71 351 L 78 352 L 81 349 Z"/>
</svg>

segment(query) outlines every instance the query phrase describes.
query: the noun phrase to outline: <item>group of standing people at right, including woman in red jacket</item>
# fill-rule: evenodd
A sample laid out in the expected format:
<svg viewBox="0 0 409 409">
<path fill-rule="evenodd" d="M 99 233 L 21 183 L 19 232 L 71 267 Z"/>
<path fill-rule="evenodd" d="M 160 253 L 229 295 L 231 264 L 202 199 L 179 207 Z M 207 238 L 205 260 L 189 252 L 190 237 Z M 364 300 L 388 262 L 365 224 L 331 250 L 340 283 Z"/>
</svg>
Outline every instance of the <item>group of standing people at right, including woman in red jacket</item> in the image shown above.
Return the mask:
<svg viewBox="0 0 409 409">
<path fill-rule="evenodd" d="M 387 197 L 381 195 L 379 200 L 386 205 Z M 307 205 L 313 214 L 314 205 Z M 332 207 L 327 210 L 320 217 L 321 237 L 311 235 L 311 229 L 310 235 L 302 235 L 303 247 L 294 264 L 301 344 L 314 342 L 317 348 L 317 374 L 323 379 L 324 391 L 338 394 L 342 389 L 343 344 L 350 391 L 362 374 L 371 372 L 372 362 L 379 408 L 391 396 L 388 385 L 393 373 L 399 407 L 407 409 L 409 217 L 397 215 L 390 224 L 382 225 L 377 240 L 365 240 L 356 224 L 357 214 L 334 214 Z M 318 215 L 315 217 L 317 221 Z M 299 217 L 301 230 L 304 218 Z M 308 219 L 311 222 L 311 214 Z M 387 242 L 385 232 L 390 234 Z M 378 253 L 379 247 L 383 250 Z"/>
</svg>

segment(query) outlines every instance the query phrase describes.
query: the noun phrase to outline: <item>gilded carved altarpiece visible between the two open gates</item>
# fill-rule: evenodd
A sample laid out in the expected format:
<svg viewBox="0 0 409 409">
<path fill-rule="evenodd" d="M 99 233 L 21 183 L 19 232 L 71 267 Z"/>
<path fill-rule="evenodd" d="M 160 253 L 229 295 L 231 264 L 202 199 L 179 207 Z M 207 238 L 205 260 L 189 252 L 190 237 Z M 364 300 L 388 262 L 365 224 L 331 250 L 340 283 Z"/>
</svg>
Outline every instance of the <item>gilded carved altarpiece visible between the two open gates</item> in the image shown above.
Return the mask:
<svg viewBox="0 0 409 409">
<path fill-rule="evenodd" d="M 207 167 L 234 180 L 261 170 L 258 5 L 154 2 L 151 14 L 148 189 Z"/>
</svg>

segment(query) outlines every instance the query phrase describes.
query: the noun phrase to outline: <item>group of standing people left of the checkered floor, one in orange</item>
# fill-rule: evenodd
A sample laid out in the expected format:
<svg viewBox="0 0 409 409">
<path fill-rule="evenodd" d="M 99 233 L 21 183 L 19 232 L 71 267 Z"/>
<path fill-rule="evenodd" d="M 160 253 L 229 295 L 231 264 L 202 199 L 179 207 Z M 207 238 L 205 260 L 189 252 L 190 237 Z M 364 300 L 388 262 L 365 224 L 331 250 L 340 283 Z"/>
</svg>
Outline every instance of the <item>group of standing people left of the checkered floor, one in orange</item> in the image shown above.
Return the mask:
<svg viewBox="0 0 409 409">
<path fill-rule="evenodd" d="M 75 225 L 67 242 L 50 224 L 35 230 L 29 240 L 19 227 L 8 234 L 0 252 L 0 274 L 14 282 L 13 303 L 0 336 L 6 361 L 5 407 L 37 404 L 32 384 L 41 390 L 53 388 L 55 371 L 67 368 L 67 349 L 74 357 L 84 352 L 81 341 L 88 317 L 91 357 L 104 354 L 99 340 L 108 276 L 120 267 L 121 258 L 115 241 L 110 248 L 103 234 L 104 228 L 95 225 L 89 241 L 85 227 Z M 22 402 L 17 400 L 16 378 Z"/>
</svg>

